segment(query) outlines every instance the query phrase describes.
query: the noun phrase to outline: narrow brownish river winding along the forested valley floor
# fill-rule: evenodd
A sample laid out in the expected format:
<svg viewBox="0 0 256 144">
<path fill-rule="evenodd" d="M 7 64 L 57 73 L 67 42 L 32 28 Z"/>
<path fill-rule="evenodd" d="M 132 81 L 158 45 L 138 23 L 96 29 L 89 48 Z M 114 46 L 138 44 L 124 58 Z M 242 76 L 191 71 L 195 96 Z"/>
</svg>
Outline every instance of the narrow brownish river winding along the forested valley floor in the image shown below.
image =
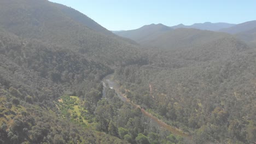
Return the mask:
<svg viewBox="0 0 256 144">
<path fill-rule="evenodd" d="M 110 74 L 110 75 L 107 75 L 106 77 L 104 77 L 102 82 L 103 82 L 103 86 L 104 86 L 103 87 L 103 97 L 105 97 L 105 95 L 106 95 L 105 91 L 106 91 L 106 87 L 108 85 L 109 88 L 115 89 L 115 93 L 117 93 L 118 97 L 121 100 L 126 101 L 127 103 L 130 103 L 131 105 L 141 109 L 141 106 L 132 103 L 130 99 L 126 98 L 125 95 L 123 93 L 121 93 L 119 83 L 117 83 L 116 81 L 113 80 L 113 74 Z M 179 136 L 183 136 L 184 138 L 191 139 L 191 136 L 189 134 L 184 133 L 183 131 L 181 131 L 177 128 L 174 128 L 171 125 L 166 124 L 165 122 L 162 122 L 160 119 L 153 116 L 151 113 L 147 112 L 146 110 L 141 109 L 141 112 L 143 113 L 144 116 L 150 118 L 150 124 L 152 123 L 152 125 L 158 125 L 158 127 L 167 129 L 167 130 L 171 131 L 171 133 L 173 133 L 174 135 L 179 135 Z"/>
</svg>

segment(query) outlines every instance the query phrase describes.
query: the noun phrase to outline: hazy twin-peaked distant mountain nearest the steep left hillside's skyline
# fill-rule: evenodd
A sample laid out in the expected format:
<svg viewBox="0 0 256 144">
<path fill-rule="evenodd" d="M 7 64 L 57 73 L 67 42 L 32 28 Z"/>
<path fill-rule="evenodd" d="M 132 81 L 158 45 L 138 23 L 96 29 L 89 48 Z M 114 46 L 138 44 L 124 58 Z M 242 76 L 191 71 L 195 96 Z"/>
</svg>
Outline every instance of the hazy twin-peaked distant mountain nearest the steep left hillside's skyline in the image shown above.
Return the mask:
<svg viewBox="0 0 256 144">
<path fill-rule="evenodd" d="M 129 38 L 137 41 L 137 43 L 145 43 L 146 41 L 150 41 L 162 33 L 167 31 L 171 31 L 172 28 L 162 25 L 161 23 L 155 25 L 146 25 L 138 29 L 130 30 L 130 31 L 119 31 L 115 32 L 115 34 L 120 37 Z"/>
</svg>

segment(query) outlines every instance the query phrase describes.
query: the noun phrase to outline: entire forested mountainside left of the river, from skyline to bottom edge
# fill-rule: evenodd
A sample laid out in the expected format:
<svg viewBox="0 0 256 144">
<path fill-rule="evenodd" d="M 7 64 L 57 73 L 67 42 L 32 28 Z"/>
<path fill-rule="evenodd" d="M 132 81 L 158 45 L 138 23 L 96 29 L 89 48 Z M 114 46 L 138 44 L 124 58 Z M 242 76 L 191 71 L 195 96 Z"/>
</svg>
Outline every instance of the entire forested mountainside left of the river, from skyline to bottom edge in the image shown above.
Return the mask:
<svg viewBox="0 0 256 144">
<path fill-rule="evenodd" d="M 0 11 L 0 143 L 183 143 L 103 88 L 115 68 L 148 64 L 134 41 L 45 0 Z"/>
</svg>

